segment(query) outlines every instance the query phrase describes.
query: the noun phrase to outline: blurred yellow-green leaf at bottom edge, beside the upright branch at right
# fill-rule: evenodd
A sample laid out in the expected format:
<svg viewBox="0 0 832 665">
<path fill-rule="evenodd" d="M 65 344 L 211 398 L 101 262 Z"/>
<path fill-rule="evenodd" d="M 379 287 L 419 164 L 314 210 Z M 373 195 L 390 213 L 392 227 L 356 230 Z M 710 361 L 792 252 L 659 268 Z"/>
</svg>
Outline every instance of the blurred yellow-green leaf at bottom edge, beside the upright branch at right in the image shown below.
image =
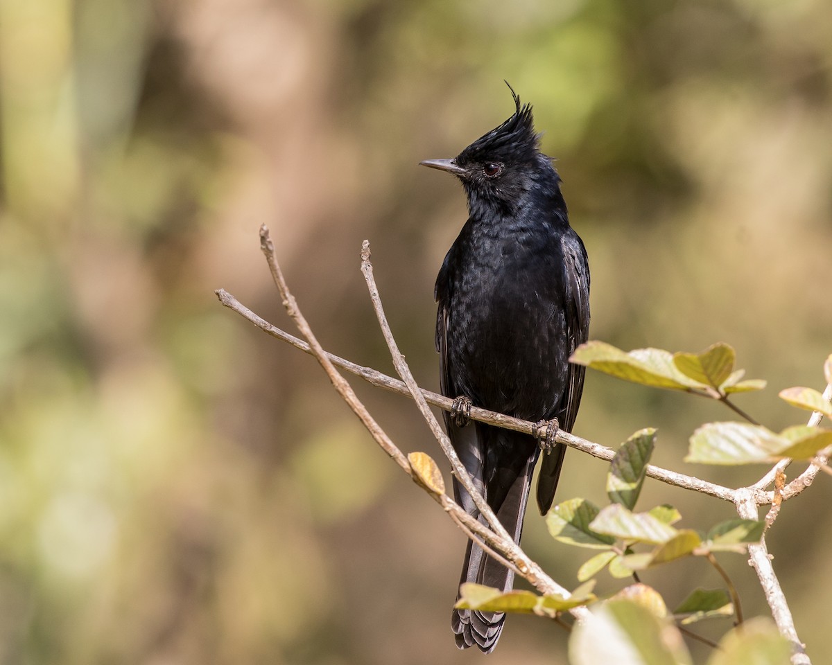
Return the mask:
<svg viewBox="0 0 832 665">
<path fill-rule="evenodd" d="M 571 644 L 570 644 L 571 646 Z M 752 618 L 721 639 L 708 665 L 790 665 L 791 645 L 768 618 Z"/>
</svg>

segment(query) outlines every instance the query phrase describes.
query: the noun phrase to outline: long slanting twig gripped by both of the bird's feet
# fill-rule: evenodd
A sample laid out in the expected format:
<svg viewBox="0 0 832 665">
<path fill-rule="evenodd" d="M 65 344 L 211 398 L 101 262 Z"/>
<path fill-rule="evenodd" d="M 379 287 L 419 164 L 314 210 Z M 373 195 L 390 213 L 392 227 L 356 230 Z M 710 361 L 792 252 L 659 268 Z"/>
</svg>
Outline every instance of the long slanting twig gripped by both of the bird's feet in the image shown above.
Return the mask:
<svg viewBox="0 0 832 665">
<path fill-rule="evenodd" d="M 266 321 L 264 318 L 260 318 L 260 316 L 258 316 L 249 308 L 246 308 L 245 305 L 240 303 L 240 301 L 237 300 L 233 295 L 225 291 L 224 288 L 217 289 L 215 293 L 217 298 L 219 298 L 220 303 L 225 305 L 225 307 L 233 310 L 235 313 L 238 313 L 242 318 L 245 318 L 247 321 L 254 323 L 255 326 L 260 328 L 263 332 L 267 333 L 271 337 L 275 337 L 275 339 L 280 339 L 280 341 L 282 342 L 287 342 L 291 344 L 293 347 L 300 349 L 300 351 L 309 353 L 310 355 L 314 356 L 314 352 L 310 348 L 309 344 L 304 342 L 302 339 L 299 339 L 298 337 L 290 335 L 288 332 L 285 332 L 280 328 L 277 328 L 276 326 Z M 408 390 L 408 387 L 404 384 L 403 381 L 399 381 L 399 379 L 389 377 L 382 372 L 378 372 L 377 370 L 372 369 L 371 367 L 364 367 L 363 365 L 359 365 L 355 362 L 350 362 L 349 360 L 345 360 L 342 357 L 335 356 L 333 353 L 325 352 L 325 355 L 329 358 L 329 361 L 332 362 L 332 364 L 336 367 L 340 367 L 341 369 L 344 369 L 347 372 L 353 373 L 357 377 L 364 379 L 364 381 L 370 383 L 375 387 L 384 388 L 384 390 L 396 392 L 399 395 L 404 395 L 405 397 L 412 398 Z M 438 408 L 443 409 L 444 411 L 451 411 L 451 408 L 453 406 L 452 399 L 444 397 L 443 395 L 439 395 L 436 392 L 425 390 L 424 388 L 421 388 L 420 392 L 422 393 L 423 397 L 428 402 L 428 404 L 437 406 Z M 473 421 L 484 422 L 488 425 L 503 427 L 507 430 L 521 431 L 524 434 L 531 434 L 532 436 L 534 435 L 535 431 L 535 423 L 533 423 L 532 421 L 524 421 L 520 418 L 506 416 L 505 414 L 498 413 L 496 411 L 488 411 L 488 409 L 483 409 L 478 406 L 471 407 L 470 418 Z M 575 436 L 574 434 L 570 434 L 569 432 L 562 430 L 559 430 L 557 432 L 555 441 L 557 441 L 557 443 L 562 443 L 566 446 L 575 448 L 578 451 L 585 452 L 588 455 L 592 455 L 593 457 L 597 457 L 599 460 L 612 461 L 612 458 L 616 454 L 616 451 L 612 450 L 612 448 L 602 446 L 601 444 L 595 443 L 593 441 L 588 441 L 587 439 L 582 439 L 580 436 Z M 717 499 L 730 501 L 732 503 L 735 501 L 735 490 L 732 490 L 728 487 L 724 487 L 722 485 L 716 485 L 715 483 L 708 482 L 707 480 L 701 480 L 692 475 L 676 473 L 676 471 L 662 469 L 660 466 L 656 465 L 647 465 L 646 475 L 650 476 L 655 480 L 659 480 L 663 483 L 666 483 L 667 485 L 681 487 L 684 490 L 693 490 L 696 492 L 701 492 L 701 494 L 713 496 Z"/>
</svg>

